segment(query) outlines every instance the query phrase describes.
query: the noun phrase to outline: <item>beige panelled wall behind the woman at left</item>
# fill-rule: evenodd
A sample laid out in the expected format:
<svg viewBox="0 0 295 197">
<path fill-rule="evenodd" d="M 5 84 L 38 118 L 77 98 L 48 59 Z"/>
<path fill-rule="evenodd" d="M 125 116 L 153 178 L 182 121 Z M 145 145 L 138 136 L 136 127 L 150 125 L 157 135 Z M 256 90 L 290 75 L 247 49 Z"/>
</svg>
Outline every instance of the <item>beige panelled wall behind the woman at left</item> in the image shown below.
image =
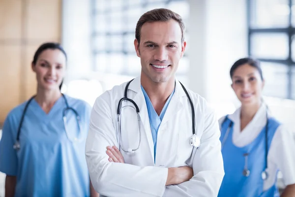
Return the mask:
<svg viewBox="0 0 295 197">
<path fill-rule="evenodd" d="M 0 0 L 0 123 L 35 94 L 30 63 L 37 47 L 60 42 L 62 0 Z"/>
</svg>

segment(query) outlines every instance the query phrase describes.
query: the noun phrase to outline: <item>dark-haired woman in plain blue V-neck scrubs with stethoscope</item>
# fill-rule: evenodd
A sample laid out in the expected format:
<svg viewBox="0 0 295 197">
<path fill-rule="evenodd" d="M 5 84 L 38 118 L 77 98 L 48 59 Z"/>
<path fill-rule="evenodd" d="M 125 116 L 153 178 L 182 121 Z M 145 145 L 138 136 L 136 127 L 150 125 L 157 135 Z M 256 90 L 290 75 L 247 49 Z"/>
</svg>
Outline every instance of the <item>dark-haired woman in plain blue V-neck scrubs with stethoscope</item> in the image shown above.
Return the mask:
<svg viewBox="0 0 295 197">
<path fill-rule="evenodd" d="M 12 109 L 2 129 L 0 171 L 6 174 L 5 196 L 98 196 L 85 159 L 91 107 L 60 92 L 66 53 L 58 43 L 45 43 L 37 49 L 31 67 L 37 94 Z"/>
</svg>

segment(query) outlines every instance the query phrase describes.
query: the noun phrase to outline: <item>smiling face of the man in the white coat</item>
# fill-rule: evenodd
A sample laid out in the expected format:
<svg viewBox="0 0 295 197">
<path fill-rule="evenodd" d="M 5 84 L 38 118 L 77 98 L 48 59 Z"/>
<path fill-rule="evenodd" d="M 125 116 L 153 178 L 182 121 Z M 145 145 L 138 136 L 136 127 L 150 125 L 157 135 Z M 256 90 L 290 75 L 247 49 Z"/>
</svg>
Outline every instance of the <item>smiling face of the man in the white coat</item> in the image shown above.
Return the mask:
<svg viewBox="0 0 295 197">
<path fill-rule="evenodd" d="M 177 21 L 147 22 L 141 28 L 140 43 L 134 40 L 141 59 L 142 79 L 156 83 L 174 81 L 185 42 L 181 43 L 181 29 Z"/>
</svg>

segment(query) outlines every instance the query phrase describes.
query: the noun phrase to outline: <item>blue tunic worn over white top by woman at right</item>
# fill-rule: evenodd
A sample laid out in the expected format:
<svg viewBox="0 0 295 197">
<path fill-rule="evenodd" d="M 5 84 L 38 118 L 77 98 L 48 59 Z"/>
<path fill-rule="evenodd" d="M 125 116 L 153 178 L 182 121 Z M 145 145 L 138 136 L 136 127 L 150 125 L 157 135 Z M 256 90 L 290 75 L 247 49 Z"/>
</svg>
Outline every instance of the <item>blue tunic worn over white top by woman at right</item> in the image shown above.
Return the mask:
<svg viewBox="0 0 295 197">
<path fill-rule="evenodd" d="M 250 144 L 244 147 L 236 147 L 232 138 L 234 123 L 227 117 L 221 126 L 220 140 L 223 141 L 231 123 L 233 125 L 222 149 L 225 176 L 218 197 L 279 197 L 278 188 L 275 184 L 267 191 L 263 191 L 262 172 L 266 167 L 266 127 Z M 270 147 L 273 135 L 279 125 L 275 119 L 268 119 L 268 147 Z M 250 175 L 248 177 L 245 177 L 242 173 L 245 164 L 244 153 L 249 154 L 247 167 L 250 170 Z"/>
</svg>

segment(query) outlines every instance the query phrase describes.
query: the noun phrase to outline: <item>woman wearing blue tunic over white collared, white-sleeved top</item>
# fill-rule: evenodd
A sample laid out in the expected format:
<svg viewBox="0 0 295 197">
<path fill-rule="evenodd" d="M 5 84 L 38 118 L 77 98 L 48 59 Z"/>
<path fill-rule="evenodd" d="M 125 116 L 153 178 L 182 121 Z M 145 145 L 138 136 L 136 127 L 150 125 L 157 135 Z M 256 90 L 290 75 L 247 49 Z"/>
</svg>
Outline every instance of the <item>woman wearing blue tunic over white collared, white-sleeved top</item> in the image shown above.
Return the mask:
<svg viewBox="0 0 295 197">
<path fill-rule="evenodd" d="M 293 133 L 270 114 L 262 99 L 265 81 L 259 62 L 240 59 L 230 76 L 241 107 L 219 120 L 225 176 L 218 197 L 279 197 L 278 170 L 287 186 L 282 197 L 295 197 Z"/>
</svg>

